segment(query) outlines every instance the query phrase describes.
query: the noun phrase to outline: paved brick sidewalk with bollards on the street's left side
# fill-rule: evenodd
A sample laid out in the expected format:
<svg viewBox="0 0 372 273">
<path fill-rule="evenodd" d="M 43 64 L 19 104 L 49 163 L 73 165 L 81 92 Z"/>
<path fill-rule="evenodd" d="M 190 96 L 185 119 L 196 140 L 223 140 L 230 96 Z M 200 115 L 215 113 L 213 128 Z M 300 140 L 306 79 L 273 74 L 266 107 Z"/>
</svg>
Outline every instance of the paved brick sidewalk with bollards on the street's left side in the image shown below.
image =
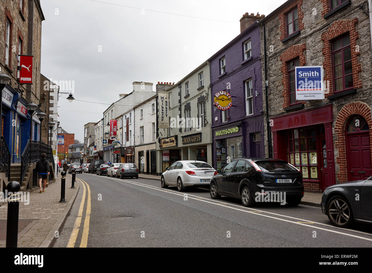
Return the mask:
<svg viewBox="0 0 372 273">
<path fill-rule="evenodd" d="M 19 204 L 18 247 L 50 247 L 55 241 L 55 231 L 61 228 L 74 203 L 79 184 L 71 189 L 71 175 L 66 176 L 65 203 L 61 199 L 61 174 L 49 183 L 45 192 L 34 190 L 29 194 L 29 205 Z M 6 245 L 7 204 L 0 207 L 0 247 Z M 4 229 L 5 228 L 5 229 Z M 5 232 L 5 234 L 4 234 Z"/>
</svg>

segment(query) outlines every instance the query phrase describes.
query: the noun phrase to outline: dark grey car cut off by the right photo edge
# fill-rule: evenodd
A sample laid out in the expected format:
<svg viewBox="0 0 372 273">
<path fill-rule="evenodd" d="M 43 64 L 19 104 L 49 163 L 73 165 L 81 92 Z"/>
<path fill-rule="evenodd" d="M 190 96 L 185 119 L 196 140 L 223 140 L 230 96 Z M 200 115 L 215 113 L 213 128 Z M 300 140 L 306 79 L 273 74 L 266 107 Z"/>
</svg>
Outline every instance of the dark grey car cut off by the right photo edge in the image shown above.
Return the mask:
<svg viewBox="0 0 372 273">
<path fill-rule="evenodd" d="M 354 222 L 372 224 L 372 176 L 327 187 L 320 206 L 336 227 L 347 228 Z"/>
</svg>

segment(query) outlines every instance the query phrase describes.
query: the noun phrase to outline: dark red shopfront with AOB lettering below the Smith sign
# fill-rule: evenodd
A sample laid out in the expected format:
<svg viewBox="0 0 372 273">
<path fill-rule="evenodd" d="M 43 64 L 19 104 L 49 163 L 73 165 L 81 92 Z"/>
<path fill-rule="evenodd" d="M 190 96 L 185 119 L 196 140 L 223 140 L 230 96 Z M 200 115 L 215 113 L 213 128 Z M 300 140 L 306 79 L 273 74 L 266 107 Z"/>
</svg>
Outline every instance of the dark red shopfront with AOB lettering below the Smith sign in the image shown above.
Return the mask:
<svg viewBox="0 0 372 273">
<path fill-rule="evenodd" d="M 323 192 L 335 184 L 332 105 L 271 119 L 274 157 L 302 172 L 305 191 Z"/>
</svg>

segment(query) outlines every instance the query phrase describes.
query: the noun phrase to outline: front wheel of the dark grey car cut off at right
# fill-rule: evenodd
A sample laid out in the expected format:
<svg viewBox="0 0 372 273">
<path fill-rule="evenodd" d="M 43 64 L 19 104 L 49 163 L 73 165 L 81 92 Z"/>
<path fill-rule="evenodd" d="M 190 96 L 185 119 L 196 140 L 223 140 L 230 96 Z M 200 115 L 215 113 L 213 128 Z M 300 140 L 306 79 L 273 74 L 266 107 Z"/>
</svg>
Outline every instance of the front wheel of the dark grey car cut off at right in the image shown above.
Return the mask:
<svg viewBox="0 0 372 273">
<path fill-rule="evenodd" d="M 333 196 L 327 203 L 328 219 L 336 227 L 350 227 L 353 224 L 353 211 L 346 198 Z"/>
</svg>

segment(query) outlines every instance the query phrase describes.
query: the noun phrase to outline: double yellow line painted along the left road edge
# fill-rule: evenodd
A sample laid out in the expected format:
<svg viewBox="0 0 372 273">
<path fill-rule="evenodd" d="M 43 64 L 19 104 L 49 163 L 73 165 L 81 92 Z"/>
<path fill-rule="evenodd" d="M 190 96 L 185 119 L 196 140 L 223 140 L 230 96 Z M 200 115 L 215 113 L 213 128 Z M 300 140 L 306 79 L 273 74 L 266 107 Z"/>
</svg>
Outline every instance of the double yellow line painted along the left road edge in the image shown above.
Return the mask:
<svg viewBox="0 0 372 273">
<path fill-rule="evenodd" d="M 75 220 L 74 229 L 71 233 L 70 240 L 68 240 L 67 247 L 75 247 L 77 235 L 79 233 L 80 225 L 81 225 L 81 218 L 83 217 L 83 209 L 85 203 L 85 196 L 86 192 L 88 192 L 88 199 L 87 199 L 87 209 L 85 211 L 85 220 L 83 226 L 83 235 L 81 236 L 80 246 L 79 247 L 87 247 L 88 243 L 88 234 L 89 234 L 89 220 L 90 220 L 90 188 L 87 182 L 82 179 L 76 178 L 77 181 L 80 181 L 83 184 L 83 198 L 80 202 L 80 207 L 78 211 L 77 218 Z"/>
</svg>

